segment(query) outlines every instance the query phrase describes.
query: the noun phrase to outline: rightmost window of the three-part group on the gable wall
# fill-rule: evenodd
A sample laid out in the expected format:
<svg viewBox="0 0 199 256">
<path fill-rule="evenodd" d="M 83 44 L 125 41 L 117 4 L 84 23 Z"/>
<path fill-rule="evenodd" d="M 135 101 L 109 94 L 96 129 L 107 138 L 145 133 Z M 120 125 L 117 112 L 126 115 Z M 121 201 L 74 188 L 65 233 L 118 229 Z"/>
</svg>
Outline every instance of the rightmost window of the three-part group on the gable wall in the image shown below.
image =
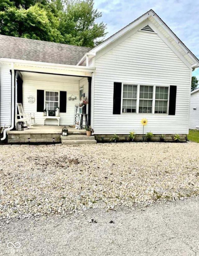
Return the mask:
<svg viewBox="0 0 199 256">
<path fill-rule="evenodd" d="M 155 113 L 167 114 L 168 87 L 155 87 Z"/>
</svg>

